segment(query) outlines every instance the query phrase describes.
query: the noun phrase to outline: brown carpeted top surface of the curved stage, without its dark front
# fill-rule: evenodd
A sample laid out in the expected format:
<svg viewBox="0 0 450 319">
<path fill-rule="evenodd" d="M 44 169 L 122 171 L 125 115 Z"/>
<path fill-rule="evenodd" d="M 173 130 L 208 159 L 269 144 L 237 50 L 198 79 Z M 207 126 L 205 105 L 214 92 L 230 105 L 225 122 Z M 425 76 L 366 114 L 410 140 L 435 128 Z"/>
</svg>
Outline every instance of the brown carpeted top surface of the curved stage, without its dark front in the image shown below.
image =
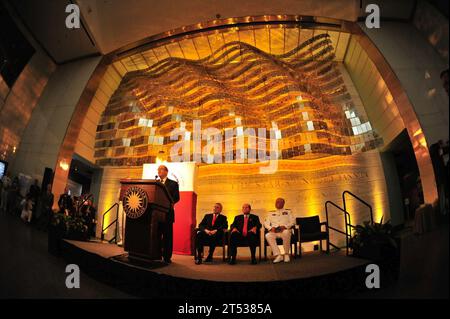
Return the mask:
<svg viewBox="0 0 450 319">
<path fill-rule="evenodd" d="M 345 256 L 345 253 L 341 252 L 330 255 L 315 252 L 303 254 L 302 258 L 292 258 L 290 263 L 280 263 L 276 265 L 269 260 L 262 260 L 258 265 L 250 265 L 249 258 L 239 258 L 239 255 L 238 263 L 234 266 L 230 266 L 226 262 L 223 262 L 221 256 L 215 257 L 213 263 L 196 265 L 193 257 L 186 255 L 173 255 L 172 264 L 170 265 L 166 265 L 162 262 L 148 263 L 146 265 L 145 263 L 133 263 L 128 261 L 127 258 L 114 258 L 115 256 L 124 254 L 123 248 L 117 245 L 72 240 L 68 240 L 68 242 L 87 252 L 97 254 L 103 258 L 111 258 L 114 262 L 122 262 L 129 266 L 142 268 L 142 270 L 153 271 L 157 274 L 172 277 L 209 281 L 261 282 L 292 280 L 322 276 L 366 265 L 368 263 L 364 259 L 347 257 Z"/>
</svg>

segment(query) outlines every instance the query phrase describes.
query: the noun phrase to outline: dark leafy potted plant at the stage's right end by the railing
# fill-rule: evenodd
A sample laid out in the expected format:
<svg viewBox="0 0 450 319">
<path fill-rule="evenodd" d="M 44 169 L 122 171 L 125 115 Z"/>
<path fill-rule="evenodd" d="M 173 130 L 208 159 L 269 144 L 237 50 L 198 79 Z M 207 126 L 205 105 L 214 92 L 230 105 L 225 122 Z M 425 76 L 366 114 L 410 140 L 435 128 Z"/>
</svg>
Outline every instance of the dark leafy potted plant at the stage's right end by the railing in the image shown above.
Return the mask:
<svg viewBox="0 0 450 319">
<path fill-rule="evenodd" d="M 355 227 L 354 236 L 350 240 L 353 256 L 371 260 L 384 260 L 394 257 L 398 252 L 398 245 L 394 237 L 390 221 L 383 224 L 366 221 Z"/>
</svg>

